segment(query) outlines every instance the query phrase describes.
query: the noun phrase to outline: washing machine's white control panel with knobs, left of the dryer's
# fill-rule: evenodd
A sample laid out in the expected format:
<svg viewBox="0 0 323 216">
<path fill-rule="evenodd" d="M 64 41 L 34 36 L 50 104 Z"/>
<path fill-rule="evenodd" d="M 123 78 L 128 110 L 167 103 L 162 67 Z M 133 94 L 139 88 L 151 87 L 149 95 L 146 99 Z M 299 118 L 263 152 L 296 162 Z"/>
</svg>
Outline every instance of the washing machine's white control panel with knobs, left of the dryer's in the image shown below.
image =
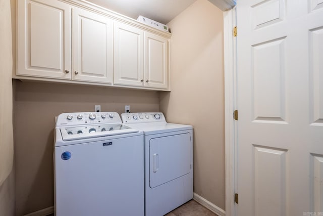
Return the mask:
<svg viewBox="0 0 323 216">
<path fill-rule="evenodd" d="M 57 117 L 56 126 L 99 123 L 122 122 L 117 112 L 71 112 L 60 114 Z"/>
</svg>

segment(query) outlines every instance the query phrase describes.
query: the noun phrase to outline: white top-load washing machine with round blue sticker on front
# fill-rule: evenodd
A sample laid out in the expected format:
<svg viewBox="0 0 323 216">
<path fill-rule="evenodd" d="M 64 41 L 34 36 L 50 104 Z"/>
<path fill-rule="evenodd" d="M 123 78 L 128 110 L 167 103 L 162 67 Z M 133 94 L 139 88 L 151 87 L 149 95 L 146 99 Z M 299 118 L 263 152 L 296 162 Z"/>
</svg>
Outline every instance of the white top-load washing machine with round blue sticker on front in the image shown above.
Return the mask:
<svg viewBox="0 0 323 216">
<path fill-rule="evenodd" d="M 144 215 L 143 157 L 143 133 L 122 124 L 118 113 L 60 114 L 56 215 Z"/>
</svg>

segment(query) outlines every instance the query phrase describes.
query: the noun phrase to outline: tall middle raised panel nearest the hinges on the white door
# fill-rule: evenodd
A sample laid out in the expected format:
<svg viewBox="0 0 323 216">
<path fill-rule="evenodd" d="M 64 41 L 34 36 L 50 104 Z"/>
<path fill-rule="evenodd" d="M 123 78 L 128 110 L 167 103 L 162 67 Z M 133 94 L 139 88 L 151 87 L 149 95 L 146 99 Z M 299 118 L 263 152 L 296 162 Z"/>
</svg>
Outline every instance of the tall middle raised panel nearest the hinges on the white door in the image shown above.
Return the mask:
<svg viewBox="0 0 323 216">
<path fill-rule="evenodd" d="M 284 81 L 285 38 L 252 46 L 254 122 L 287 123 Z"/>
</svg>

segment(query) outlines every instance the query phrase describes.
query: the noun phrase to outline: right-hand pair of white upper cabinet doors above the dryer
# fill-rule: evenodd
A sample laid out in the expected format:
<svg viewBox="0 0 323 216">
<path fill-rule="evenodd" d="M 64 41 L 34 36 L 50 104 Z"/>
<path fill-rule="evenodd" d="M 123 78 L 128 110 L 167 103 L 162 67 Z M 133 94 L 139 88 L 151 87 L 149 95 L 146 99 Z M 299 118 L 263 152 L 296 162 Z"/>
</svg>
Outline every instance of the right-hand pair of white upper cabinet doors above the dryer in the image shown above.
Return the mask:
<svg viewBox="0 0 323 216">
<path fill-rule="evenodd" d="M 114 33 L 114 83 L 168 89 L 168 38 L 119 22 Z"/>
</svg>

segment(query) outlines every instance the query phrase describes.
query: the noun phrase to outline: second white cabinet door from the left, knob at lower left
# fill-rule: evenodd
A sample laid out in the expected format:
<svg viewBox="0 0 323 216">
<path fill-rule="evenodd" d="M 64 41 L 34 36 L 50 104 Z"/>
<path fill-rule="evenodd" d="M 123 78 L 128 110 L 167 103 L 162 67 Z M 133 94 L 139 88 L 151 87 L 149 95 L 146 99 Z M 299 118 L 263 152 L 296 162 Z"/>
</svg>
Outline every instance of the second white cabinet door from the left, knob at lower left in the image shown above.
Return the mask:
<svg viewBox="0 0 323 216">
<path fill-rule="evenodd" d="M 73 8 L 73 80 L 112 83 L 113 21 Z"/>
</svg>

